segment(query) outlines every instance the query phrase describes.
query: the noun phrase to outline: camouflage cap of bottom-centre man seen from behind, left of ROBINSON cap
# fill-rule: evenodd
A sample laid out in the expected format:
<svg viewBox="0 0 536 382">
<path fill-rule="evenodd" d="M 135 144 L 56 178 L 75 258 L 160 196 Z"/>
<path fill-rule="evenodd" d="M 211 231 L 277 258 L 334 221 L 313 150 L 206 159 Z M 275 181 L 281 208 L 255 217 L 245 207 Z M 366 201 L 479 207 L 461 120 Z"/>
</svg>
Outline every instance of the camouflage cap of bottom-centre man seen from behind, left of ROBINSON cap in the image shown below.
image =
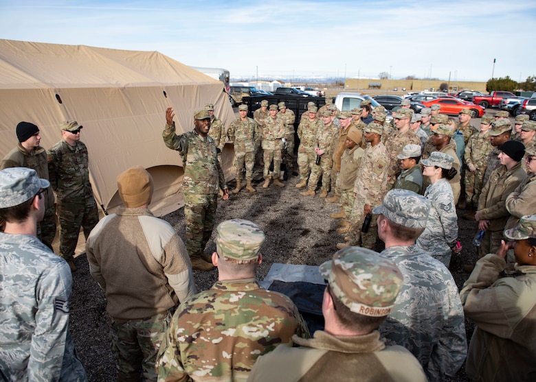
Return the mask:
<svg viewBox="0 0 536 382">
<path fill-rule="evenodd" d="M 255 263 L 265 239 L 265 232 L 254 222 L 227 220 L 216 228 L 216 252 L 230 263 Z"/>
</svg>

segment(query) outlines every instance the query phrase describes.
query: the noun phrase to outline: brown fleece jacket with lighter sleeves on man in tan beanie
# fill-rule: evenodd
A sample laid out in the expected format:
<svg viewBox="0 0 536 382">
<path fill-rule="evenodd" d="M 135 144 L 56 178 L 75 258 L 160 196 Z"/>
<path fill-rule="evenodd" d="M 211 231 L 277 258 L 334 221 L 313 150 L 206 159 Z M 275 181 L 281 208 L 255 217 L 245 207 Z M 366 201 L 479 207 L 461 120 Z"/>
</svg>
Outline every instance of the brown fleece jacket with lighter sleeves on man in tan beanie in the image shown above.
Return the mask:
<svg viewBox="0 0 536 382">
<path fill-rule="evenodd" d="M 86 243 L 91 276 L 119 321 L 162 313 L 197 293 L 183 241 L 148 208 L 118 208 L 100 220 Z"/>
</svg>

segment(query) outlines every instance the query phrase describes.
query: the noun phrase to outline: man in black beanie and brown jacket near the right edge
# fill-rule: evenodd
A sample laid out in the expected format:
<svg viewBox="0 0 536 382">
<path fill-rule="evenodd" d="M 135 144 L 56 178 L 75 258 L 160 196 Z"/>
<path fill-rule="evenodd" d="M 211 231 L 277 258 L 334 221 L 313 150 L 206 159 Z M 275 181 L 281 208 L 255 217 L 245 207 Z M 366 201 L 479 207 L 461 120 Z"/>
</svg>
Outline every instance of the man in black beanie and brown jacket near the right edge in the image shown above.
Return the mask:
<svg viewBox="0 0 536 382">
<path fill-rule="evenodd" d="M 475 219 L 478 229 L 485 230 L 478 247 L 478 259 L 495 253 L 504 239 L 502 231 L 510 213 L 506 209 L 506 197 L 526 178 L 520 160 L 525 155 L 525 146 L 518 141 L 506 141 L 499 146 L 500 167 L 495 169 L 484 184 Z M 465 269 L 469 270 L 469 268 Z"/>
</svg>

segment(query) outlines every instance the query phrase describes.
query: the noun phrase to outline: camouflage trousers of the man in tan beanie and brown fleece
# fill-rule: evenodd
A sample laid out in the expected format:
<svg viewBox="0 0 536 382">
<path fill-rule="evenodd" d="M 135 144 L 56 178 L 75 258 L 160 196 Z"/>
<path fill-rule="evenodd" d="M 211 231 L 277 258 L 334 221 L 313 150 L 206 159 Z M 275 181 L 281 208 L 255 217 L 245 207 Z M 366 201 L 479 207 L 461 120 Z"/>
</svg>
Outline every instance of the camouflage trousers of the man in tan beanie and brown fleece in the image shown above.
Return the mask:
<svg viewBox="0 0 536 382">
<path fill-rule="evenodd" d="M 118 361 L 118 382 L 157 381 L 155 363 L 171 316 L 171 311 L 166 311 L 124 323 L 110 318 L 111 350 Z"/>
</svg>

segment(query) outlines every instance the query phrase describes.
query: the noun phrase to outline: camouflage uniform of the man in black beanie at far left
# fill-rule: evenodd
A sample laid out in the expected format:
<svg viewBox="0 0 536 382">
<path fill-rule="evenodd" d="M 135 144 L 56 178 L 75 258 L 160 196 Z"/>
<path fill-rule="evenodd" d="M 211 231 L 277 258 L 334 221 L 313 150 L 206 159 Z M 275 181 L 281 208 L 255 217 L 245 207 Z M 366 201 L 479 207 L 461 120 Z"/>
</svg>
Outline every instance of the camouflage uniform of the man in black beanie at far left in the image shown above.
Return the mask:
<svg viewBox="0 0 536 382">
<path fill-rule="evenodd" d="M 37 171 L 37 176 L 48 180 L 47 152 L 41 146 L 36 147 L 32 153 L 18 143 L 11 152 L 6 155 L 1 164 L 0 170 L 10 167 L 27 167 Z M 45 194 L 45 217 L 37 224 L 37 238 L 41 239 L 45 246 L 52 250 L 52 241 L 56 236 L 56 208 L 54 208 L 54 193 L 52 187 L 48 187 Z"/>
</svg>

